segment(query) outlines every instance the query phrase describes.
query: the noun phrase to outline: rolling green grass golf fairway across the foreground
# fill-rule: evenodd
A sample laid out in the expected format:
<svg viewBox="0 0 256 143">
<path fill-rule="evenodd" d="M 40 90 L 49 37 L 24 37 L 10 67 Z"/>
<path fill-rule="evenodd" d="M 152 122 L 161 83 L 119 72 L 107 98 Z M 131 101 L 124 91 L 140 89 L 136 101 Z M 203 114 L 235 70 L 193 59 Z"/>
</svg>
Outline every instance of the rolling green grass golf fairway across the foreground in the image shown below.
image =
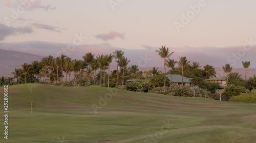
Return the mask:
<svg viewBox="0 0 256 143">
<path fill-rule="evenodd" d="M 4 139 L 0 88 L 1 143 L 256 142 L 256 104 L 45 84 L 9 86 Z"/>
</svg>

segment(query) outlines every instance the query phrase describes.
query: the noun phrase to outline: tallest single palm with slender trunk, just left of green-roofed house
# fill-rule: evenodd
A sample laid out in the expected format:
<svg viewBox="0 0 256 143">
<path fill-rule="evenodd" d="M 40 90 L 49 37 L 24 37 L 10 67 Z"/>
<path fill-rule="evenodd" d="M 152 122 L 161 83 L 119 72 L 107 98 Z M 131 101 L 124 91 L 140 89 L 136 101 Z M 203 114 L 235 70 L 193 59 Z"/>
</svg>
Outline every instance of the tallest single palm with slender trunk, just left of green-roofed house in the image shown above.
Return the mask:
<svg viewBox="0 0 256 143">
<path fill-rule="evenodd" d="M 169 58 L 170 57 L 170 55 L 172 55 L 173 53 L 174 53 L 174 51 L 173 52 L 171 52 L 171 53 L 169 53 L 169 48 L 167 47 L 165 47 L 165 45 L 164 46 L 162 46 L 161 48 L 159 48 L 158 50 L 156 50 L 156 52 L 158 53 L 158 55 L 160 55 L 160 57 L 161 58 L 163 58 L 164 59 L 164 63 L 163 63 L 163 65 L 164 65 L 164 86 L 163 86 L 163 94 L 165 94 L 165 81 L 166 81 L 166 76 L 165 76 L 165 73 L 166 73 L 166 70 L 165 70 L 165 63 L 166 63 L 166 58 Z"/>
</svg>

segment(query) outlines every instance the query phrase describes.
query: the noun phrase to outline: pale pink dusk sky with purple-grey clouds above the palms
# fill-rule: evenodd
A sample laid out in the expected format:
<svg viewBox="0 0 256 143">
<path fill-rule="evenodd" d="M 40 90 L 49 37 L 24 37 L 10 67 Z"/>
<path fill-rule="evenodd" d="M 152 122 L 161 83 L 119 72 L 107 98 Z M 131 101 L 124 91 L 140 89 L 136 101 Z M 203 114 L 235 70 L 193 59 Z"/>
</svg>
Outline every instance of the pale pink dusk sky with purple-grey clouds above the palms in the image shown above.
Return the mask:
<svg viewBox="0 0 256 143">
<path fill-rule="evenodd" d="M 0 49 L 81 59 L 121 49 L 139 67 L 170 59 L 256 68 L 254 0 L 1 0 Z M 255 42 L 254 42 L 255 41 Z"/>
</svg>

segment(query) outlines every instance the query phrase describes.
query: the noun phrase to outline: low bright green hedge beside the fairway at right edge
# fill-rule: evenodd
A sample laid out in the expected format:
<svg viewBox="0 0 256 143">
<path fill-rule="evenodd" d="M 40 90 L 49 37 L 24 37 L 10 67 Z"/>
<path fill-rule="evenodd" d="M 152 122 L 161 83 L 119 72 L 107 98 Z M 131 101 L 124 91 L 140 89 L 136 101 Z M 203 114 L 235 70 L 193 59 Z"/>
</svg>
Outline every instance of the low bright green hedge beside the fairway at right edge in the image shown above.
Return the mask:
<svg viewBox="0 0 256 143">
<path fill-rule="evenodd" d="M 247 103 L 256 103 L 256 92 L 253 93 L 242 93 L 239 96 L 233 96 L 229 101 L 234 102 L 247 102 Z"/>
</svg>

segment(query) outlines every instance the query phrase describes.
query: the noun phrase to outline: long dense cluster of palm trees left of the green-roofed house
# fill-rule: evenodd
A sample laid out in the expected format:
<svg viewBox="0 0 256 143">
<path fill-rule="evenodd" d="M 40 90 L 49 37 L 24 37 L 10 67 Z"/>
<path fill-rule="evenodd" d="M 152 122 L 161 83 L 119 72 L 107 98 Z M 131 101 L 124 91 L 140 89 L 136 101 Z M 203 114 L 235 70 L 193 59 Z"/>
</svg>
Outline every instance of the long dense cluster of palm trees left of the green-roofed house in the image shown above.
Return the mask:
<svg viewBox="0 0 256 143">
<path fill-rule="evenodd" d="M 101 54 L 96 57 L 91 52 L 88 52 L 82 56 L 83 60 L 72 60 L 64 54 L 59 55 L 57 58 L 49 55 L 42 58 L 39 62 L 24 63 L 21 68 L 15 68 L 12 74 L 17 84 L 36 81 L 49 83 L 74 81 L 75 84 L 78 79 L 83 79 L 88 82 L 94 80 L 94 84 L 96 84 L 96 80 L 99 81 L 99 84 L 102 84 L 103 81 L 103 86 L 105 85 L 107 74 L 108 87 L 110 87 L 110 80 L 115 80 L 117 85 L 119 83 L 123 84 L 127 74 L 130 74 L 133 78 L 139 71 L 137 65 L 127 68 L 130 60 L 123 55 L 124 52 L 121 50 L 116 50 L 106 55 Z M 117 70 L 111 71 L 110 64 L 114 58 L 117 62 Z M 108 69 L 108 73 L 105 72 L 106 69 Z M 97 71 L 99 71 L 98 74 Z M 97 79 L 98 77 L 99 79 Z M 121 81 L 119 80 L 120 78 L 122 78 Z"/>
</svg>

